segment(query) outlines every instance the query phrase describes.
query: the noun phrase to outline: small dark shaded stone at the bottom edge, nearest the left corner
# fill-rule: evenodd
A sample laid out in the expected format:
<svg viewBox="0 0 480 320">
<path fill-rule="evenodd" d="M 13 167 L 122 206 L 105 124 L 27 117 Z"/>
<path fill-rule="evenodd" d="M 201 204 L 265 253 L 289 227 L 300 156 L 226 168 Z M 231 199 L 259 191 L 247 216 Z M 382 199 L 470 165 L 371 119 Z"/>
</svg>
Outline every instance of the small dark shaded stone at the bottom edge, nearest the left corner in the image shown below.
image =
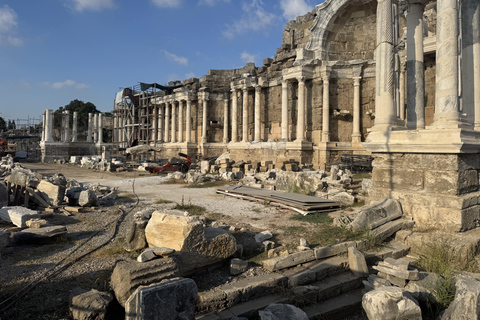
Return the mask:
<svg viewBox="0 0 480 320">
<path fill-rule="evenodd" d="M 70 295 L 70 312 L 74 320 L 104 320 L 112 301 L 113 296 L 108 292 L 76 288 Z"/>
</svg>

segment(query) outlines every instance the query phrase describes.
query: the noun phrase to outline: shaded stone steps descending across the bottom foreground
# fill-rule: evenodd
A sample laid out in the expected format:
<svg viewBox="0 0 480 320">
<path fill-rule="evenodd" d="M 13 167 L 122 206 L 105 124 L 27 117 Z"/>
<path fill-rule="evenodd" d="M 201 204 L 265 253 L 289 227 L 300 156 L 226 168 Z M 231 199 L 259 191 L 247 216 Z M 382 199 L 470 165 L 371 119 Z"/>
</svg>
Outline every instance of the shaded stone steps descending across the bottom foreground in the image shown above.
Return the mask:
<svg viewBox="0 0 480 320">
<path fill-rule="evenodd" d="M 366 259 L 371 264 L 407 252 L 408 247 L 395 243 Z M 196 319 L 259 319 L 258 311 L 271 303 L 296 305 L 309 319 L 344 319 L 361 310 L 362 280 L 349 270 L 345 255 L 319 259 L 200 292 Z"/>
</svg>

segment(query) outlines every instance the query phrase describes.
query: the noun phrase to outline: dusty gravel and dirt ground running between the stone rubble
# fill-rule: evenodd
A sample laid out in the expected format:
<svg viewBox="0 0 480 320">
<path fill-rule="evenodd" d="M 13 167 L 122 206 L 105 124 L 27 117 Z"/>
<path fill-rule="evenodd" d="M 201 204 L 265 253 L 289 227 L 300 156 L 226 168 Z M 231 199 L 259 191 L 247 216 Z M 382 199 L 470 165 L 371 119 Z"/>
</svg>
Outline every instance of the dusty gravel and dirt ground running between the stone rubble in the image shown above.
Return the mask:
<svg viewBox="0 0 480 320">
<path fill-rule="evenodd" d="M 175 205 L 161 203 L 163 200 L 204 207 L 205 216 L 210 220 L 256 232 L 269 229 L 282 234 L 286 227 L 304 225 L 289 220 L 291 211 L 219 195 L 216 188 L 167 184 L 166 176 L 162 175 L 97 172 L 75 165 L 38 163 L 25 166 L 44 175 L 63 173 L 67 179 L 82 183 L 116 187 L 120 198 L 109 207 L 91 208 L 71 216 L 54 214 L 48 221 L 65 225 L 66 239 L 44 245 L 15 245 L 11 253 L 1 256 L 0 320 L 71 319 L 68 301 L 72 289 L 109 291 L 115 262 L 136 258 L 122 247 L 122 239 L 134 214 L 142 210 L 165 210 Z M 18 231 L 13 225 L 2 222 L 0 228 L 12 233 Z M 292 241 L 298 243 L 296 238 Z M 253 267 L 239 278 L 265 272 L 261 267 Z M 226 268 L 194 279 L 200 290 L 236 280 Z M 121 319 L 121 313 L 117 319 Z"/>
</svg>

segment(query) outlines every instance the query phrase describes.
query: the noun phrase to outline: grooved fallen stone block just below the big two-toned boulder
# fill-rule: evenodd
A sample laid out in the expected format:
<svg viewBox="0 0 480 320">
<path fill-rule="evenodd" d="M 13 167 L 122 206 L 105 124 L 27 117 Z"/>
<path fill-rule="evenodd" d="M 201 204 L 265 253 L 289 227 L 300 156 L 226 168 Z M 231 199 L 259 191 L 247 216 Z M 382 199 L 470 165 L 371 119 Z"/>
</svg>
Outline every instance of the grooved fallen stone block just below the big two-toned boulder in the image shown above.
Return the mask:
<svg viewBox="0 0 480 320">
<path fill-rule="evenodd" d="M 127 299 L 139 286 L 185 275 L 180 270 L 178 257 L 175 256 L 145 263 L 119 261 L 113 269 L 110 282 L 115 297 L 125 307 Z"/>
</svg>

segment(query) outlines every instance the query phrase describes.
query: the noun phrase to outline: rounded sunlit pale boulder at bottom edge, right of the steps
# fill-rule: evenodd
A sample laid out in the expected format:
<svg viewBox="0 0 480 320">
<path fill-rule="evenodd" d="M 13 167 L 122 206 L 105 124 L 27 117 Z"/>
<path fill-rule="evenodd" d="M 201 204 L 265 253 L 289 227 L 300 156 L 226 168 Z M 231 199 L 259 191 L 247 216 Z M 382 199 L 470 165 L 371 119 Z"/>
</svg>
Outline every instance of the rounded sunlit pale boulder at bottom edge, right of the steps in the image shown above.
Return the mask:
<svg viewBox="0 0 480 320">
<path fill-rule="evenodd" d="M 362 306 L 369 320 L 422 319 L 418 302 L 397 287 L 367 292 L 362 298 Z"/>
</svg>

